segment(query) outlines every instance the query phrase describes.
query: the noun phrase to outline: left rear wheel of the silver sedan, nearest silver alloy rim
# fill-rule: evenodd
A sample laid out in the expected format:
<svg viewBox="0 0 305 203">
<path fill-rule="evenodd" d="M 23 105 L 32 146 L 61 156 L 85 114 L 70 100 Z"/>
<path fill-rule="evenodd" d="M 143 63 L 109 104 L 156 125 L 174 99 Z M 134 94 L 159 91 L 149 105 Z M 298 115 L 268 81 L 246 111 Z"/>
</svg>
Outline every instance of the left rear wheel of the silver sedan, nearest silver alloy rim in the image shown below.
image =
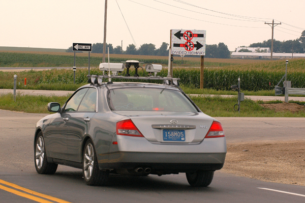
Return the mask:
<svg viewBox="0 0 305 203">
<path fill-rule="evenodd" d="M 87 185 L 105 185 L 109 171 L 99 169 L 98 159 L 91 140 L 87 140 L 83 152 L 83 177 Z"/>
</svg>

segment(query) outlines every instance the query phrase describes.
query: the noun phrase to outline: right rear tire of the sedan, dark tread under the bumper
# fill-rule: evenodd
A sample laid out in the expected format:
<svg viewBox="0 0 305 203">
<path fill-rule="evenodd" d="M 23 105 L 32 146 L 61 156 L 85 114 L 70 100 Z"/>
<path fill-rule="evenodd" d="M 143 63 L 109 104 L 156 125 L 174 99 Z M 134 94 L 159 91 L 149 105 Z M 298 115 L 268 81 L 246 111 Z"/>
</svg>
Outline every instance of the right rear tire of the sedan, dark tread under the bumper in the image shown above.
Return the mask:
<svg viewBox="0 0 305 203">
<path fill-rule="evenodd" d="M 194 173 L 187 172 L 186 175 L 191 186 L 206 187 L 211 184 L 214 177 L 214 171 L 197 170 Z"/>
</svg>

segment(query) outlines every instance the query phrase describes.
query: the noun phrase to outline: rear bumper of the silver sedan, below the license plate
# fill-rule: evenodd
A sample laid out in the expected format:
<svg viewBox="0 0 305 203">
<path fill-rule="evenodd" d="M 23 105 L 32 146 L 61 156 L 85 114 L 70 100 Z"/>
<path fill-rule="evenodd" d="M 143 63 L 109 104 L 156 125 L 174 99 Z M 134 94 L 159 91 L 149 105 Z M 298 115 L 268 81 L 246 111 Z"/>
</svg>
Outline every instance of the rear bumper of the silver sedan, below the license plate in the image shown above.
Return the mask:
<svg viewBox="0 0 305 203">
<path fill-rule="evenodd" d="M 208 138 L 192 144 L 151 143 L 143 137 L 117 136 L 117 144 L 105 155 L 98 154 L 100 169 L 219 170 L 227 153 L 226 139 Z"/>
</svg>

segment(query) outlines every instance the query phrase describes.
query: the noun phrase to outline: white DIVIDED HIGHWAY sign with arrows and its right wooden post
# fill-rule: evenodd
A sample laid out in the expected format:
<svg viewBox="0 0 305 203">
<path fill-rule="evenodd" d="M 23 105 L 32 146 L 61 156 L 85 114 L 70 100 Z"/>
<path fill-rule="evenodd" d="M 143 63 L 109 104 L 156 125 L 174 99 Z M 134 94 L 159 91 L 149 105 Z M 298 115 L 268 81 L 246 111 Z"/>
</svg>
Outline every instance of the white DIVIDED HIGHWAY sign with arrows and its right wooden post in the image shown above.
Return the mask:
<svg viewBox="0 0 305 203">
<path fill-rule="evenodd" d="M 200 89 L 203 89 L 206 31 L 171 30 L 171 54 L 200 55 Z"/>
</svg>

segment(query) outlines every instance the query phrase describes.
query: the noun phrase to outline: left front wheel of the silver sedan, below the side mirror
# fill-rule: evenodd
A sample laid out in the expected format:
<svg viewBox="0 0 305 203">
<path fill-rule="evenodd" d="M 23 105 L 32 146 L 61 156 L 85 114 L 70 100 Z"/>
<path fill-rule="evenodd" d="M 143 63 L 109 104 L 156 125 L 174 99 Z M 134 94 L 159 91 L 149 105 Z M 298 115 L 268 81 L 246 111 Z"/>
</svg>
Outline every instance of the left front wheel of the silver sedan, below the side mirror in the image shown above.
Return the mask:
<svg viewBox="0 0 305 203">
<path fill-rule="evenodd" d="M 47 154 L 45 150 L 45 144 L 43 134 L 40 131 L 35 140 L 35 167 L 36 171 L 40 174 L 54 174 L 57 169 L 57 164 L 49 163 L 47 160 Z"/>
</svg>

